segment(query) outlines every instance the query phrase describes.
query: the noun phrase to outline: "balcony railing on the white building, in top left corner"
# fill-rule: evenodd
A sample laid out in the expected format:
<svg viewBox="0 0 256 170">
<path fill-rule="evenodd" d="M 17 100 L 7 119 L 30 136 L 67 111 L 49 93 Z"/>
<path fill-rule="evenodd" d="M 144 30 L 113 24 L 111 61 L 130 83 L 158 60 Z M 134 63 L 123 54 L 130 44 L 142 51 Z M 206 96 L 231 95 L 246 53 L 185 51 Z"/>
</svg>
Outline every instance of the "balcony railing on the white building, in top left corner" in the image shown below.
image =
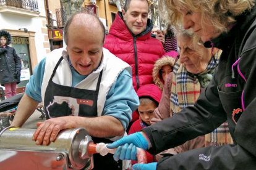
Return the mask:
<svg viewBox="0 0 256 170">
<path fill-rule="evenodd" d="M 0 6 L 12 6 L 38 12 L 37 0 L 0 0 Z"/>
</svg>

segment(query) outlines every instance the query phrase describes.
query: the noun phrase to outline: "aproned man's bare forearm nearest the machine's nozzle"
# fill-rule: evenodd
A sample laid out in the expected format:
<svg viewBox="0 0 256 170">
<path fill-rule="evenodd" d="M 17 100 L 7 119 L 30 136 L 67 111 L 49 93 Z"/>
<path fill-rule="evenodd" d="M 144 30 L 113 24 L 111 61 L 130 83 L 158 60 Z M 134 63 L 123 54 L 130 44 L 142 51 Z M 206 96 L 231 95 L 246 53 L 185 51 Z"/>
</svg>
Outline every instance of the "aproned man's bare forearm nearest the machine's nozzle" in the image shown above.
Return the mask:
<svg viewBox="0 0 256 170">
<path fill-rule="evenodd" d="M 124 127 L 121 121 L 113 116 L 100 116 L 96 118 L 85 118 L 71 116 L 74 127 L 84 127 L 90 136 L 94 137 L 115 137 L 124 134 Z"/>
</svg>

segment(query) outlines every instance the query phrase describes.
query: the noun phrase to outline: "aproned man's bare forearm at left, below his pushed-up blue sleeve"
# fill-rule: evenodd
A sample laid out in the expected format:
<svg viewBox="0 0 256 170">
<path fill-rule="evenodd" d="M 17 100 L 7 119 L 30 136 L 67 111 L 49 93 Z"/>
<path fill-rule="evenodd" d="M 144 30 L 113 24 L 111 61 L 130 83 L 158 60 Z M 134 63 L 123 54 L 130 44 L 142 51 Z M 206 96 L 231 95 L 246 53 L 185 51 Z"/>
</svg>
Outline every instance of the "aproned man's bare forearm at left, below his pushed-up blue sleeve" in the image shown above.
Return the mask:
<svg viewBox="0 0 256 170">
<path fill-rule="evenodd" d="M 24 94 L 20 100 L 17 112 L 15 113 L 14 120 L 12 121 L 11 126 L 22 127 L 22 125 L 27 121 L 27 119 L 34 113 L 38 102 L 33 100 L 28 95 Z"/>
</svg>

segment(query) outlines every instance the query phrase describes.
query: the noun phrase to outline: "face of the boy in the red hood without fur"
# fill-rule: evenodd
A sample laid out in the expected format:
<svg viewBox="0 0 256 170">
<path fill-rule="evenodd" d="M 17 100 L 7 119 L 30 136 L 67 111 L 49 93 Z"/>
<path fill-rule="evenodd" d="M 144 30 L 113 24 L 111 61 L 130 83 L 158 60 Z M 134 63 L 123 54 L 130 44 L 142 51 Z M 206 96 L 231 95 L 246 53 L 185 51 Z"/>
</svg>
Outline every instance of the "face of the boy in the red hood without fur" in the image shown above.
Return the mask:
<svg viewBox="0 0 256 170">
<path fill-rule="evenodd" d="M 150 120 L 155 116 L 154 110 L 156 105 L 153 103 L 148 103 L 147 105 L 139 105 L 138 111 L 140 113 L 140 118 L 150 125 Z"/>
</svg>

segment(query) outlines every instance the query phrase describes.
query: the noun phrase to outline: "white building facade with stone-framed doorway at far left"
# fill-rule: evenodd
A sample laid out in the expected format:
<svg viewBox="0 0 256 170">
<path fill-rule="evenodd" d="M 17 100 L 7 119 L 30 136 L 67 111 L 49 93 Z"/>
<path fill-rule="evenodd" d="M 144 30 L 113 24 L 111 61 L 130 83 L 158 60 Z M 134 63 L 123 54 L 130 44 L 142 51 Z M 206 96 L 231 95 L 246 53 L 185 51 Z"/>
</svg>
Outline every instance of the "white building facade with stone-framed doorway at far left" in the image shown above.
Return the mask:
<svg viewBox="0 0 256 170">
<path fill-rule="evenodd" d="M 0 29 L 12 35 L 12 44 L 22 59 L 21 83 L 25 86 L 33 68 L 50 52 L 43 0 L 0 0 Z"/>
</svg>

